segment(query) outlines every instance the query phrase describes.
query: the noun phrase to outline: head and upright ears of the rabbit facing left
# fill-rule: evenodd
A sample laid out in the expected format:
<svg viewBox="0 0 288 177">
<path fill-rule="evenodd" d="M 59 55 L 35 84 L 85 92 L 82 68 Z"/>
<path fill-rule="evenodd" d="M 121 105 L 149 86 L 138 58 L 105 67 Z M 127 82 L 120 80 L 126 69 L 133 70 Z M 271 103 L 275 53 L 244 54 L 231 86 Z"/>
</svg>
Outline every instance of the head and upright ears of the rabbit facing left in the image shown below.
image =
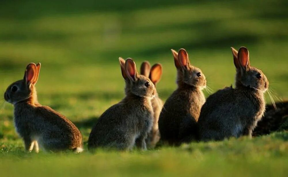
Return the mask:
<svg viewBox="0 0 288 177">
<path fill-rule="evenodd" d="M 4 99 L 12 104 L 36 97 L 35 84 L 39 77 L 41 64 L 30 63 L 27 65 L 24 78 L 12 83 L 4 93 Z"/>
</svg>

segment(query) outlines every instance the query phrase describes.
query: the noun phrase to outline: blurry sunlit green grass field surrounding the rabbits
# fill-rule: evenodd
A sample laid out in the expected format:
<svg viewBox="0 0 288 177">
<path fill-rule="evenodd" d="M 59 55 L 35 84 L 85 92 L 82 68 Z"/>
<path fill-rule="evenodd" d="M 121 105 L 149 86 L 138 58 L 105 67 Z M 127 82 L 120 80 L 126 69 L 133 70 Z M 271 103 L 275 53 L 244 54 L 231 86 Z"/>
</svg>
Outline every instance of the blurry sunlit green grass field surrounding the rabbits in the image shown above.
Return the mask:
<svg viewBox="0 0 288 177">
<path fill-rule="evenodd" d="M 285 100 L 287 7 L 285 0 L 1 1 L 0 94 L 28 63 L 41 62 L 39 102 L 71 119 L 86 148 L 96 119 L 124 97 L 118 57 L 133 58 L 138 68 L 160 62 L 157 90 L 165 100 L 176 88 L 171 48 L 185 48 L 216 91 L 234 82 L 230 47 L 246 46 L 274 99 Z M 25 153 L 12 105 L 0 105 L 1 176 L 287 176 L 287 140 L 288 132 L 276 132 L 146 152 Z"/>
</svg>

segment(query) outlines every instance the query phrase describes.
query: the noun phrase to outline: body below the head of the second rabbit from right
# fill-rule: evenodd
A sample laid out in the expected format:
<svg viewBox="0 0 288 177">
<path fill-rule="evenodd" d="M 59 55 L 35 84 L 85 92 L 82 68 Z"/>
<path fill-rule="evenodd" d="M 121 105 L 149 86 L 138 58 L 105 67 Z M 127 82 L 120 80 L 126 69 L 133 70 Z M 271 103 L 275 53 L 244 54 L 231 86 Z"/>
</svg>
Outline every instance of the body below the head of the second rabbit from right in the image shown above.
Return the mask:
<svg viewBox="0 0 288 177">
<path fill-rule="evenodd" d="M 177 89 L 166 100 L 159 117 L 160 136 L 170 145 L 181 143 L 194 131 L 200 109 L 205 102 L 202 91 Z M 191 130 L 192 128 L 192 130 Z"/>
</svg>

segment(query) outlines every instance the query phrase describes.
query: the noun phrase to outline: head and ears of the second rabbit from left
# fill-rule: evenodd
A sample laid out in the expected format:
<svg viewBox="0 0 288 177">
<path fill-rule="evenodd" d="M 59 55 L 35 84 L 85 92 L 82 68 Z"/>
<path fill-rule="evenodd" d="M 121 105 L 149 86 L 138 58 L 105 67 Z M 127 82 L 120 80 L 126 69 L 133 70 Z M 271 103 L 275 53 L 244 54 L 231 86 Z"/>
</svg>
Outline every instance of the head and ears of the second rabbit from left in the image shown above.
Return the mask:
<svg viewBox="0 0 288 177">
<path fill-rule="evenodd" d="M 121 73 L 126 82 L 126 95 L 132 93 L 139 97 L 153 98 L 156 95 L 156 88 L 149 78 L 138 74 L 135 62 L 128 58 L 119 58 Z"/>
</svg>

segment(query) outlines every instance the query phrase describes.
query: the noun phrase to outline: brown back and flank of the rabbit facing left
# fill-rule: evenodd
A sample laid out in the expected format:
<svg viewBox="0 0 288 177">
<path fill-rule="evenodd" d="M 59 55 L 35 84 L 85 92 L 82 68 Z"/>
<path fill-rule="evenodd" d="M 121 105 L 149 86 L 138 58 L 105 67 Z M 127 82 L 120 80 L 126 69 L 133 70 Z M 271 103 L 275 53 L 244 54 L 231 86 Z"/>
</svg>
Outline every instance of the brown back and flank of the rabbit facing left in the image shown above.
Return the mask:
<svg viewBox="0 0 288 177">
<path fill-rule="evenodd" d="M 48 106 L 15 106 L 14 122 L 22 138 L 38 141 L 45 150 L 82 148 L 82 134 L 65 116 Z"/>
</svg>

